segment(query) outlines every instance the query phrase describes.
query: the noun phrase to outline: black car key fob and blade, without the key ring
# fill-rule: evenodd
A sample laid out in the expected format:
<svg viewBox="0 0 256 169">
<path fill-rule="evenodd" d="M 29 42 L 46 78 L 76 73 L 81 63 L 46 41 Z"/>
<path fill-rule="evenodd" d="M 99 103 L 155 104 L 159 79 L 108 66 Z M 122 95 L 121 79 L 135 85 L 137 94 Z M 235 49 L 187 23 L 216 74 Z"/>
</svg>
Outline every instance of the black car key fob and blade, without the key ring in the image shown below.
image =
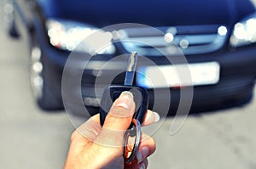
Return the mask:
<svg viewBox="0 0 256 169">
<path fill-rule="evenodd" d="M 113 101 L 119 98 L 119 95 L 124 91 L 130 91 L 133 94 L 134 101 L 136 104 L 136 110 L 133 115 L 134 119 L 137 119 L 141 124 L 146 111 L 148 110 L 148 91 L 143 87 L 132 86 L 134 76 L 136 73 L 137 65 L 137 53 L 131 53 L 128 60 L 127 69 L 125 72 L 124 85 L 111 85 L 105 88 L 102 94 L 101 108 L 100 108 L 100 119 L 103 125 L 106 115 L 110 110 Z M 132 127 L 132 125 L 131 125 Z M 131 128 L 130 127 L 130 128 Z"/>
</svg>

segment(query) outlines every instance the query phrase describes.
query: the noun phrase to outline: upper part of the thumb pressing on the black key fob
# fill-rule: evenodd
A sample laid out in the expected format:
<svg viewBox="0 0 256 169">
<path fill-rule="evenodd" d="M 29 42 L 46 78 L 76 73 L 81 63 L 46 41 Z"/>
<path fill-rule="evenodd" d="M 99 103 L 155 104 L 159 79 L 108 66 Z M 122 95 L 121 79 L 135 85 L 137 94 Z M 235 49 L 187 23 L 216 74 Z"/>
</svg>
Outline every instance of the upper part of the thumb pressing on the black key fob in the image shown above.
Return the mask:
<svg viewBox="0 0 256 169">
<path fill-rule="evenodd" d="M 131 92 L 125 91 L 113 102 L 106 116 L 103 128 L 114 131 L 126 131 L 131 125 L 135 103 Z"/>
</svg>

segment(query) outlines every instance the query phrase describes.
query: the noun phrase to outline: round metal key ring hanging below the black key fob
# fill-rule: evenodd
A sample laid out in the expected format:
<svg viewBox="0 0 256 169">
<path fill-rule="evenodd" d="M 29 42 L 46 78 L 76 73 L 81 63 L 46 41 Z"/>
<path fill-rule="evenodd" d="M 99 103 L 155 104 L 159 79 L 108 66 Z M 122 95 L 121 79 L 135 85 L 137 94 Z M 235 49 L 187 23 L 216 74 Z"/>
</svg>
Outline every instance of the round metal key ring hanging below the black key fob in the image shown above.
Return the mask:
<svg viewBox="0 0 256 169">
<path fill-rule="evenodd" d="M 136 157 L 137 155 L 137 151 L 138 151 L 138 147 L 139 147 L 139 144 L 140 144 L 140 140 L 141 140 L 141 123 L 140 121 L 138 121 L 137 119 L 132 119 L 131 121 L 131 125 L 133 127 L 131 127 L 131 129 L 127 130 L 125 132 L 125 136 L 124 136 L 124 158 L 125 158 L 125 163 L 131 163 L 131 161 L 134 160 L 134 158 Z M 136 129 L 136 135 L 135 135 L 135 143 L 133 145 L 133 149 L 131 151 L 131 155 L 128 155 L 128 138 L 130 136 L 130 133 L 134 131 L 134 129 Z"/>
</svg>

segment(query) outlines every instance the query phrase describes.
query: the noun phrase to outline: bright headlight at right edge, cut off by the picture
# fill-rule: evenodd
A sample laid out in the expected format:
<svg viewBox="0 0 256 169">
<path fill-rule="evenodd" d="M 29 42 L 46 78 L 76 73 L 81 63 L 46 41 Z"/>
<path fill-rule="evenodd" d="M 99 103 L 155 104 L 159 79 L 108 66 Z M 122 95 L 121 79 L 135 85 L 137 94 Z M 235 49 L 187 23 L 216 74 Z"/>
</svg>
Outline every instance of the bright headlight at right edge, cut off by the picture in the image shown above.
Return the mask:
<svg viewBox="0 0 256 169">
<path fill-rule="evenodd" d="M 256 42 L 256 14 L 236 23 L 230 37 L 231 47 L 241 47 Z"/>
</svg>

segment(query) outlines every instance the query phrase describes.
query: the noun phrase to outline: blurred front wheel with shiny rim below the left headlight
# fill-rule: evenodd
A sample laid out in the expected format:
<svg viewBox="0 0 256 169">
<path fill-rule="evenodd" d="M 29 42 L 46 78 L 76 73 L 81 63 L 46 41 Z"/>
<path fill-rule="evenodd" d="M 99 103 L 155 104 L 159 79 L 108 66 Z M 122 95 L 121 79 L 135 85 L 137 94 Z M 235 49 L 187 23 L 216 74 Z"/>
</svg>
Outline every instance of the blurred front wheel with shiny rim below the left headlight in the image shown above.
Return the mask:
<svg viewBox="0 0 256 169">
<path fill-rule="evenodd" d="M 49 79 L 44 74 L 42 52 L 36 42 L 32 42 L 30 54 L 30 82 L 32 93 L 40 108 L 44 110 L 60 110 L 62 101 L 52 92 Z"/>
</svg>

